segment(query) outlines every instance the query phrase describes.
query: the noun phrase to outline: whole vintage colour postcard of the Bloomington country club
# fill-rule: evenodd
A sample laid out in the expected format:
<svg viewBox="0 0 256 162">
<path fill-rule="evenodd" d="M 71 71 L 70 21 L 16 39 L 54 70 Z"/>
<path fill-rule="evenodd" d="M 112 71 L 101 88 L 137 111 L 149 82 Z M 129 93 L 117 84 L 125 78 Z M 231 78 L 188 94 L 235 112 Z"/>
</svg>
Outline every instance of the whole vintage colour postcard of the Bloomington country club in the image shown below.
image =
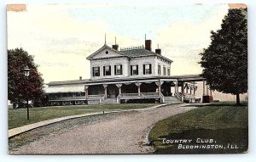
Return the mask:
<svg viewBox="0 0 256 162">
<path fill-rule="evenodd" d="M 9 154 L 243 154 L 247 6 L 7 5 Z"/>
</svg>

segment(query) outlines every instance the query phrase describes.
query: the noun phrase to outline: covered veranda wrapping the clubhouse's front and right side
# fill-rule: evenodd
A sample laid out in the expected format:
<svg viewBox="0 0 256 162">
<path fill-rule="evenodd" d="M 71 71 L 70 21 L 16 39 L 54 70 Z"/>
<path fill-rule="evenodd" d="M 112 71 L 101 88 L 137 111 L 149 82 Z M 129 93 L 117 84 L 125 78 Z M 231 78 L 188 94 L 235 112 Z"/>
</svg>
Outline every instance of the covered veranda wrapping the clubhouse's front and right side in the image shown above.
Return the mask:
<svg viewBox="0 0 256 162">
<path fill-rule="evenodd" d="M 119 81 L 88 81 L 84 84 L 85 99 L 104 103 L 104 100 L 121 100 L 152 98 L 156 102 L 164 103 L 165 99 L 177 98 L 195 102 L 196 86 L 193 81 L 178 81 L 175 77 L 127 78 Z"/>
</svg>

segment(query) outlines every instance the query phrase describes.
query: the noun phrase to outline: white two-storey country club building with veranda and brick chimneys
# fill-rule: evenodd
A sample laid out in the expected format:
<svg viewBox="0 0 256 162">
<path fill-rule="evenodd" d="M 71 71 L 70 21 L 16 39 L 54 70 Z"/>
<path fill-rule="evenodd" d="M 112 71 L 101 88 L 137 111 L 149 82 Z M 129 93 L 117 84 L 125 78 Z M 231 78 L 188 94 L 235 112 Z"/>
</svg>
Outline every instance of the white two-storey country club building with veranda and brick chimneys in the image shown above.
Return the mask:
<svg viewBox="0 0 256 162">
<path fill-rule="evenodd" d="M 173 76 L 172 60 L 162 56 L 159 48 L 153 52 L 151 43 L 145 40 L 145 46 L 120 50 L 117 44 L 108 47 L 105 43 L 87 57 L 90 79 L 49 82 L 49 103 L 201 102 L 201 98 L 195 98 L 195 81 L 205 83 L 205 79 L 199 75 Z M 203 93 L 210 96 L 205 95 L 205 84 Z"/>
</svg>

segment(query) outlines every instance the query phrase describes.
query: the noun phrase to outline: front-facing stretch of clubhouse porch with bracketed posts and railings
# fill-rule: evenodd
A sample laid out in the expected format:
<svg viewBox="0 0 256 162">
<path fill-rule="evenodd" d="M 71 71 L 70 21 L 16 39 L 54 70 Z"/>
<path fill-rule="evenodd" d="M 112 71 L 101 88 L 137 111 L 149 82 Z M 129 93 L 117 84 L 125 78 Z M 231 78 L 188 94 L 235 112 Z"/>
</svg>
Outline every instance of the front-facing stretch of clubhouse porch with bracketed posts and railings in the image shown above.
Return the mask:
<svg viewBox="0 0 256 162">
<path fill-rule="evenodd" d="M 175 79 L 87 83 L 85 99 L 93 103 L 180 102 Z M 166 100 L 166 101 L 165 101 Z"/>
</svg>

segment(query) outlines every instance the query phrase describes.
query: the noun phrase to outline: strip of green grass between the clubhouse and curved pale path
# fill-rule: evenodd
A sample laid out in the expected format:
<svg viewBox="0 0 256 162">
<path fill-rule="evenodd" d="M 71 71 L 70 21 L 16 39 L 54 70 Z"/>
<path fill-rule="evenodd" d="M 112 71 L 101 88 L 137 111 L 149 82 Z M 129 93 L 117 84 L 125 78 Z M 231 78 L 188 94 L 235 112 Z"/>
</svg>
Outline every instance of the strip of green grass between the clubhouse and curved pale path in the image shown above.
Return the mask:
<svg viewBox="0 0 256 162">
<path fill-rule="evenodd" d="M 30 108 L 30 120 L 26 120 L 26 109 L 9 109 L 9 129 L 26 126 L 43 120 L 51 120 L 70 115 L 84 115 L 94 112 L 121 109 L 144 109 L 157 103 L 126 103 L 126 104 L 97 104 L 82 106 L 59 106 Z"/>
</svg>

